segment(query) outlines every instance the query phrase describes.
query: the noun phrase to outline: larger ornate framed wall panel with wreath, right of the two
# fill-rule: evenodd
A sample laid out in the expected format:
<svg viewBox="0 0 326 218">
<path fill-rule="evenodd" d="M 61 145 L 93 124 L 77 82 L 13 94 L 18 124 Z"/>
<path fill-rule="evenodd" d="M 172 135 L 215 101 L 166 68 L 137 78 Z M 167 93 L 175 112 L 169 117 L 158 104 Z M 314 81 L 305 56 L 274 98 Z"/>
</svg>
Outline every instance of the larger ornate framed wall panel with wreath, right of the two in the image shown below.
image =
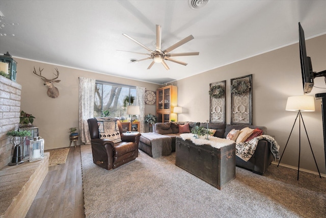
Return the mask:
<svg viewBox="0 0 326 218">
<path fill-rule="evenodd" d="M 252 75 L 231 79 L 231 124 L 253 123 Z"/>
</svg>

